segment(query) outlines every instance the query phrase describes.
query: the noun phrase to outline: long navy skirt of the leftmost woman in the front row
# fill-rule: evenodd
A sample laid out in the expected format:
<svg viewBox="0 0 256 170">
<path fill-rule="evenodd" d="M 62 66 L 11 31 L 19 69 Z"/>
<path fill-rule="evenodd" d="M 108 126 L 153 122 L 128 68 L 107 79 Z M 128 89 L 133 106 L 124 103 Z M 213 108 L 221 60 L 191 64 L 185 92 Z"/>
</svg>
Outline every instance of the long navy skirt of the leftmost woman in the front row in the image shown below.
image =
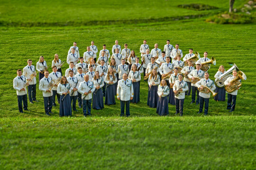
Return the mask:
<svg viewBox="0 0 256 170">
<path fill-rule="evenodd" d="M 60 116 L 72 116 L 71 100 L 69 94 L 60 96 Z"/>
</svg>

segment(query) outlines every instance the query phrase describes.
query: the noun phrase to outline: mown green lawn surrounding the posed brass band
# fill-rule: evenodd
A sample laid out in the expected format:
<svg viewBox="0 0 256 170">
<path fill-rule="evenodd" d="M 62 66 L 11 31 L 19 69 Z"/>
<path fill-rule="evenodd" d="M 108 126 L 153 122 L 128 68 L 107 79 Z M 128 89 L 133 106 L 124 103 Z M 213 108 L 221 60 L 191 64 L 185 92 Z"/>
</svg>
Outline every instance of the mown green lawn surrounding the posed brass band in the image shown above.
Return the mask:
<svg viewBox="0 0 256 170">
<path fill-rule="evenodd" d="M 219 9 L 194 11 L 177 8 L 183 3 L 204 3 Z M 235 2 L 242 7 L 245 0 Z M 5 1 L 0 4 L 0 169 L 255 169 L 256 167 L 256 25 L 217 25 L 204 20 L 228 10 L 228 0 L 206 1 Z M 141 8 L 141 7 L 145 8 Z M 127 8 L 126 8 L 127 7 Z M 76 12 L 74 12 L 74 10 Z M 199 17 L 201 15 L 202 17 Z M 175 17 L 188 17 L 187 19 Z M 119 21 L 116 21 L 119 20 Z M 215 57 L 210 79 L 219 65 L 226 70 L 236 63 L 247 80 L 238 91 L 236 110 L 227 102 L 210 100 L 209 117 L 197 115 L 199 106 L 186 96 L 184 116 L 158 117 L 146 106 L 147 85 L 141 83 L 140 103 L 130 105 L 130 118 L 120 118 L 117 105 L 82 109 L 71 118 L 46 117 L 42 93 L 38 103 L 28 103 L 29 112 L 18 112 L 12 87 L 16 70 L 36 65 L 43 55 L 51 64 L 54 54 L 65 61 L 76 41 L 80 55 L 93 40 L 100 50 L 111 50 L 115 40 L 135 50 L 147 40 L 164 49 L 167 39 L 180 44 L 183 54 L 190 48 Z M 68 68 L 65 64 L 63 71 Z M 37 78 L 38 79 L 38 78 Z M 226 98 L 227 100 L 227 98 Z"/>
</svg>

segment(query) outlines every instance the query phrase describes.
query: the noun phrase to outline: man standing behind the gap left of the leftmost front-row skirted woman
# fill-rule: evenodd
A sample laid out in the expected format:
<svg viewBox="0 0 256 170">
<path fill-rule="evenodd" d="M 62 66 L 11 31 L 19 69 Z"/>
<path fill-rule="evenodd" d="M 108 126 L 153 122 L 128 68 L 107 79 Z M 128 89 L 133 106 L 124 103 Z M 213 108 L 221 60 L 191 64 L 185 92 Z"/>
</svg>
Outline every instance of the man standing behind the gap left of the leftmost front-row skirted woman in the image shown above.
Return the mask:
<svg viewBox="0 0 256 170">
<path fill-rule="evenodd" d="M 51 72 L 51 74 L 49 74 L 49 77 L 51 77 L 52 80 L 55 81 L 52 90 L 53 90 L 53 106 L 56 106 L 56 103 L 55 103 L 56 95 L 57 95 L 57 102 L 60 103 L 60 95 L 57 93 L 57 88 L 58 88 L 59 80 L 61 79 L 61 73 L 57 72 L 56 66 L 53 66 L 52 69 L 53 69 L 53 72 Z"/>
</svg>

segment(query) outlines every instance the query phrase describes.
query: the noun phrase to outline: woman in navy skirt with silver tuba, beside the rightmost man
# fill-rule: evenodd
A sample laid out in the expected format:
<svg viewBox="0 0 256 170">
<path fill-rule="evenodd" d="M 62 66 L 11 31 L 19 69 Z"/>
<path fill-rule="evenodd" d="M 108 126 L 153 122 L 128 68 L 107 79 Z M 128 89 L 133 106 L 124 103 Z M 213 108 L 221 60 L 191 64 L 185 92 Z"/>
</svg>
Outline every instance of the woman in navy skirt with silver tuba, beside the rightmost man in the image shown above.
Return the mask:
<svg viewBox="0 0 256 170">
<path fill-rule="evenodd" d="M 217 71 L 217 73 L 215 74 L 214 78 L 220 80 L 223 79 L 222 77 L 220 78 L 219 76 L 221 76 L 222 74 L 226 73 L 226 70 L 224 68 L 224 66 L 219 66 L 219 70 Z M 226 98 L 226 91 L 225 91 L 225 87 L 216 87 L 215 92 L 218 93 L 216 96 L 214 96 L 214 100 L 219 102 L 219 101 L 225 101 Z"/>
</svg>

